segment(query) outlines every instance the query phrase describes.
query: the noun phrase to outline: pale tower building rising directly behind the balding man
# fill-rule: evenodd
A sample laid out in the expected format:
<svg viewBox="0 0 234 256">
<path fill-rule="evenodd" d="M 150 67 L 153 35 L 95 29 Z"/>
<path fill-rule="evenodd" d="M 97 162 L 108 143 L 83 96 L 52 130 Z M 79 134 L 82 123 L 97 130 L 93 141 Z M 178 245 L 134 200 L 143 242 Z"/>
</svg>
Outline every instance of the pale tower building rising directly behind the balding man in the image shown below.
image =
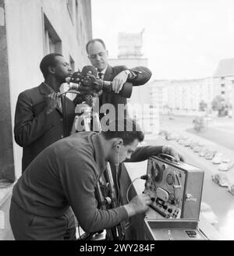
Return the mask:
<svg viewBox="0 0 234 256">
<path fill-rule="evenodd" d="M 147 58 L 142 52 L 144 30 L 140 33 L 119 33 L 118 59 L 108 59 L 111 66 L 123 65 L 127 68 L 135 66 L 147 67 Z M 133 87 L 133 94 L 129 98 L 129 112 L 135 116 L 146 133 L 158 133 L 158 108 L 150 104 L 149 83 Z"/>
</svg>

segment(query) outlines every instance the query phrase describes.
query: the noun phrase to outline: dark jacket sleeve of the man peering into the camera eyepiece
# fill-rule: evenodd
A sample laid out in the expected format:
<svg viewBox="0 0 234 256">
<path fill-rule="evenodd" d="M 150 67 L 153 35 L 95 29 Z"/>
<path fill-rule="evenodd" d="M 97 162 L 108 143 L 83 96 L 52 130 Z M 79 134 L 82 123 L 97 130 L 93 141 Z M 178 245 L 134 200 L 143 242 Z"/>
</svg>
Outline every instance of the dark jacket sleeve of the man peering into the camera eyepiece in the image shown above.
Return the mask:
<svg viewBox="0 0 234 256">
<path fill-rule="evenodd" d="M 49 115 L 48 115 L 49 116 Z M 16 103 L 14 135 L 16 143 L 21 147 L 34 142 L 50 129 L 45 112 L 34 116 L 33 104 L 26 94 L 21 93 Z"/>
</svg>

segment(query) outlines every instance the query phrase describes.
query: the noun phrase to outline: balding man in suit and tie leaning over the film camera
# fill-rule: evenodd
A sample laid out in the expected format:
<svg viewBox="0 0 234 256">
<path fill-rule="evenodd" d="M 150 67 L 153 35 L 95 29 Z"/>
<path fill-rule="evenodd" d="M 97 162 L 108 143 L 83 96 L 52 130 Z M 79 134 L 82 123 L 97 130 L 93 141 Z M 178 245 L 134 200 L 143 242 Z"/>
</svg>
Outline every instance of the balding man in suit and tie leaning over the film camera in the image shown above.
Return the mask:
<svg viewBox="0 0 234 256">
<path fill-rule="evenodd" d="M 151 71 L 143 66 L 133 69 L 127 69 L 126 66 L 108 65 L 108 51 L 105 43 L 101 39 L 93 39 L 86 44 L 88 58 L 91 64 L 97 69 L 101 80 L 112 81 L 112 93 L 103 92 L 99 98 L 100 107 L 106 103 L 115 107 L 118 111 L 118 105 L 126 105 L 126 98 L 119 95 L 123 84 L 130 82 L 133 86 L 146 84 L 151 78 Z"/>
</svg>

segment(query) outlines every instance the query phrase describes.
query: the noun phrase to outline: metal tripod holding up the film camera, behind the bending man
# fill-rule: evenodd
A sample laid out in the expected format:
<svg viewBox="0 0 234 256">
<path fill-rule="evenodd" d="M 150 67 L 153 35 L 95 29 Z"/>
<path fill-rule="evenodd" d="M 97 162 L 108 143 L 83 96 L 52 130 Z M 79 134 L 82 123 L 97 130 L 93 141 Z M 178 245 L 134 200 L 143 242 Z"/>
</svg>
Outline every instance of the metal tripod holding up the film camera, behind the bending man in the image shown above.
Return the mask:
<svg viewBox="0 0 234 256">
<path fill-rule="evenodd" d="M 74 120 L 74 129 L 80 131 L 80 129 L 86 131 L 101 132 L 101 123 L 97 112 L 93 112 L 94 98 L 91 95 L 87 95 L 86 102 L 77 106 L 77 114 Z M 116 165 L 116 173 L 118 173 L 119 165 Z M 118 182 L 118 180 L 116 180 Z M 101 190 L 103 188 L 103 190 Z M 105 193 L 108 190 L 108 193 Z M 104 195 L 105 194 L 105 195 Z M 117 200 L 117 194 L 115 190 L 115 183 L 112 176 L 112 169 L 108 163 L 105 172 L 102 174 L 97 182 L 96 197 L 99 204 L 99 208 L 107 210 L 108 208 L 117 208 L 119 201 Z M 101 230 L 102 232 L 102 230 Z M 97 232 L 99 233 L 99 232 Z M 84 233 L 78 240 L 93 240 L 93 237 L 97 233 Z M 106 240 L 124 240 L 124 227 L 122 223 L 112 227 L 112 229 L 106 230 Z"/>
</svg>

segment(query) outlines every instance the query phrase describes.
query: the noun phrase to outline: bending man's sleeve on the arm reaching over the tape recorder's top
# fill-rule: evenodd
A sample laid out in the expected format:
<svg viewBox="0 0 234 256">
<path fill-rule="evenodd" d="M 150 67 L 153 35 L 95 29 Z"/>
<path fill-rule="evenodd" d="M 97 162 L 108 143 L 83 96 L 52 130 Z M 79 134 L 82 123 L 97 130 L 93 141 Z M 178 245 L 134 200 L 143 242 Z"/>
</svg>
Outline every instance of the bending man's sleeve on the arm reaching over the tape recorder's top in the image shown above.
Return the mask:
<svg viewBox="0 0 234 256">
<path fill-rule="evenodd" d="M 145 146 L 138 147 L 136 151 L 133 152 L 130 159 L 126 159 L 125 162 L 141 162 L 147 160 L 152 155 L 161 154 L 162 146 Z"/>
</svg>

